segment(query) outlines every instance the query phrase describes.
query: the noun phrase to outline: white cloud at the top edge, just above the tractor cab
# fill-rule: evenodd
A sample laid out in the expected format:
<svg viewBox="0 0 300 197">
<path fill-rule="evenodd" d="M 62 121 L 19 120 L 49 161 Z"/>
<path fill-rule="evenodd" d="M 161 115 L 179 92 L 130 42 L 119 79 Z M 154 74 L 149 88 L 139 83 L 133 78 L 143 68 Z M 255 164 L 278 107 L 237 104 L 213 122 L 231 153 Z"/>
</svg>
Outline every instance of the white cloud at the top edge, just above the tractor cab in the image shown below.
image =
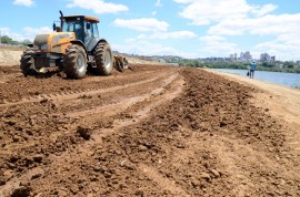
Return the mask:
<svg viewBox="0 0 300 197">
<path fill-rule="evenodd" d="M 106 2 L 103 0 L 71 0 L 72 3 L 69 3 L 68 8 L 79 7 L 87 10 L 92 10 L 96 13 L 118 13 L 128 11 L 129 8 L 123 4 L 117 4 L 111 2 Z"/>
</svg>

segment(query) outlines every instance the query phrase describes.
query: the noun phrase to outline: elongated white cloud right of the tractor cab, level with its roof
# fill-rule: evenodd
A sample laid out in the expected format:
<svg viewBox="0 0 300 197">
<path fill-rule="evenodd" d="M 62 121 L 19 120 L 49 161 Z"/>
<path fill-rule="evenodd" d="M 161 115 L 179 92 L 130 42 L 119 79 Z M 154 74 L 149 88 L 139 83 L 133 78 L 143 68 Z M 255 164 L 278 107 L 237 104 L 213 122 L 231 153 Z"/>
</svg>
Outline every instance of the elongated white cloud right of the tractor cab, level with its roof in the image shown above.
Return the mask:
<svg viewBox="0 0 300 197">
<path fill-rule="evenodd" d="M 124 19 L 116 19 L 113 21 L 114 27 L 119 28 L 128 28 L 137 31 L 167 31 L 169 24 L 164 21 L 159 21 L 157 19 L 132 19 L 132 20 L 124 20 Z"/>
</svg>

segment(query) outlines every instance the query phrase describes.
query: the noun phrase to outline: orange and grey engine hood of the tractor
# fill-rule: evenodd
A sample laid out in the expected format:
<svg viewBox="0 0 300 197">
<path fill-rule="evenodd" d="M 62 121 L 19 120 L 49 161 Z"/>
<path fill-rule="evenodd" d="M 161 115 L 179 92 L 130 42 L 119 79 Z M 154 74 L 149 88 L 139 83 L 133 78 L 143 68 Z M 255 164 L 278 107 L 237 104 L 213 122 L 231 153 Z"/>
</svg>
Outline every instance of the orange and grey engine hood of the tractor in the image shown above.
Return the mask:
<svg viewBox="0 0 300 197">
<path fill-rule="evenodd" d="M 70 45 L 70 41 L 74 40 L 73 32 L 53 32 L 38 34 L 33 41 L 33 50 L 40 52 L 62 52 L 62 45 Z"/>
</svg>

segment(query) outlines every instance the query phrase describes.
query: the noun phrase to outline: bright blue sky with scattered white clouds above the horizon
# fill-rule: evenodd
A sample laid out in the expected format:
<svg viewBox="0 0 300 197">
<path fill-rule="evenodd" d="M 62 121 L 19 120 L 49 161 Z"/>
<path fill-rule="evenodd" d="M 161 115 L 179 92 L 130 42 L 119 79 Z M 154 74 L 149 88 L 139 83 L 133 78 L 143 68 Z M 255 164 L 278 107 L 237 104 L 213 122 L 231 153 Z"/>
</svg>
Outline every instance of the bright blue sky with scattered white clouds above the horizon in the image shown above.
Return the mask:
<svg viewBox="0 0 300 197">
<path fill-rule="evenodd" d="M 300 0 L 0 0 L 0 33 L 32 41 L 59 10 L 99 18 L 100 37 L 129 54 L 300 60 Z"/>
</svg>

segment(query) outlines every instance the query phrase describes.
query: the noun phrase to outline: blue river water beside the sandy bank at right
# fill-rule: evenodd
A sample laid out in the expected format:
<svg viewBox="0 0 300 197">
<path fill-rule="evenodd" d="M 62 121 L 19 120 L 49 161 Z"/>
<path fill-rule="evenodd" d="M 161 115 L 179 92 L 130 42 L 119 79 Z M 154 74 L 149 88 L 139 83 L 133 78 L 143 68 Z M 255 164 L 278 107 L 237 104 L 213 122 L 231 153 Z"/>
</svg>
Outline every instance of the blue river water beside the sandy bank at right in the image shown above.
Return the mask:
<svg viewBox="0 0 300 197">
<path fill-rule="evenodd" d="M 244 77 L 247 76 L 247 70 L 232 70 L 232 69 L 213 69 L 216 71 L 222 71 L 227 73 L 239 74 Z M 281 73 L 281 72 L 268 72 L 268 71 L 256 71 L 254 79 L 264 82 L 276 83 L 290 87 L 300 87 L 300 74 L 299 73 Z"/>
</svg>

